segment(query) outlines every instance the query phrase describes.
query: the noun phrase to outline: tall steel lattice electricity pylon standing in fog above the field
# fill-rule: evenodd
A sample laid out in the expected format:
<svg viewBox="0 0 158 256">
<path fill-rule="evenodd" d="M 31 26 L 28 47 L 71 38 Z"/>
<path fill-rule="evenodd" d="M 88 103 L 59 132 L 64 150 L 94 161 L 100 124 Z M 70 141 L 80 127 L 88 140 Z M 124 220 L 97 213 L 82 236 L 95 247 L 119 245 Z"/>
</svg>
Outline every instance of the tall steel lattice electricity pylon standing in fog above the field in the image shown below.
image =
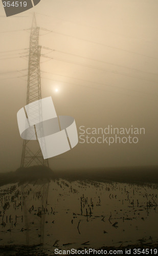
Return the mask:
<svg viewBox="0 0 158 256">
<path fill-rule="evenodd" d="M 34 14 L 30 35 L 27 104 L 41 99 L 40 51 L 39 27 L 37 27 Z M 44 165 L 49 167 L 48 159 L 43 159 L 38 140 L 36 145 L 34 141 L 30 140 L 24 140 L 23 142 L 20 167 L 29 167 L 31 165 Z"/>
</svg>

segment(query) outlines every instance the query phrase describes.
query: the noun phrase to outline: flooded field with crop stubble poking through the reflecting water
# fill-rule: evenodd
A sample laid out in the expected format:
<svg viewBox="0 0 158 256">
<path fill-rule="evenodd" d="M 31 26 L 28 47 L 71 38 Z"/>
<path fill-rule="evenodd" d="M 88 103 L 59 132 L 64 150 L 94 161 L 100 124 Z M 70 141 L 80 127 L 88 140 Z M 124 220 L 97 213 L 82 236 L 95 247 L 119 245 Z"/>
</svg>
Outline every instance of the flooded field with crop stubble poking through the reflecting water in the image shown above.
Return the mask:
<svg viewBox="0 0 158 256">
<path fill-rule="evenodd" d="M 99 248 L 157 243 L 157 185 L 67 181 L 1 187 L 0 245 Z"/>
</svg>

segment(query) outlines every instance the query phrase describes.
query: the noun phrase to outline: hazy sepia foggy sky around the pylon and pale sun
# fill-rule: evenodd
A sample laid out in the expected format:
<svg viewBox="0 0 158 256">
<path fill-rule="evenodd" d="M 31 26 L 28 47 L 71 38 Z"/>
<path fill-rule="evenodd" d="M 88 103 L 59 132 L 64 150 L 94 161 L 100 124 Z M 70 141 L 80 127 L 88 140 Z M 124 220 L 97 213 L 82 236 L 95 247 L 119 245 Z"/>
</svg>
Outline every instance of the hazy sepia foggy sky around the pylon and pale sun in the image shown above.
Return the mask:
<svg viewBox="0 0 158 256">
<path fill-rule="evenodd" d="M 52 96 L 57 115 L 73 116 L 78 131 L 81 125 L 133 125 L 146 131 L 137 144 L 78 143 L 51 158 L 50 167 L 157 165 L 157 8 L 152 0 L 41 0 L 33 9 L 5 17 L 0 2 L 0 172 L 20 165 L 16 113 L 26 105 L 24 49 L 33 11 L 37 26 L 53 31 L 40 30 L 39 44 L 55 50 L 41 49 L 41 90 L 42 98 Z M 20 72 L 5 73 L 11 71 Z"/>
</svg>

